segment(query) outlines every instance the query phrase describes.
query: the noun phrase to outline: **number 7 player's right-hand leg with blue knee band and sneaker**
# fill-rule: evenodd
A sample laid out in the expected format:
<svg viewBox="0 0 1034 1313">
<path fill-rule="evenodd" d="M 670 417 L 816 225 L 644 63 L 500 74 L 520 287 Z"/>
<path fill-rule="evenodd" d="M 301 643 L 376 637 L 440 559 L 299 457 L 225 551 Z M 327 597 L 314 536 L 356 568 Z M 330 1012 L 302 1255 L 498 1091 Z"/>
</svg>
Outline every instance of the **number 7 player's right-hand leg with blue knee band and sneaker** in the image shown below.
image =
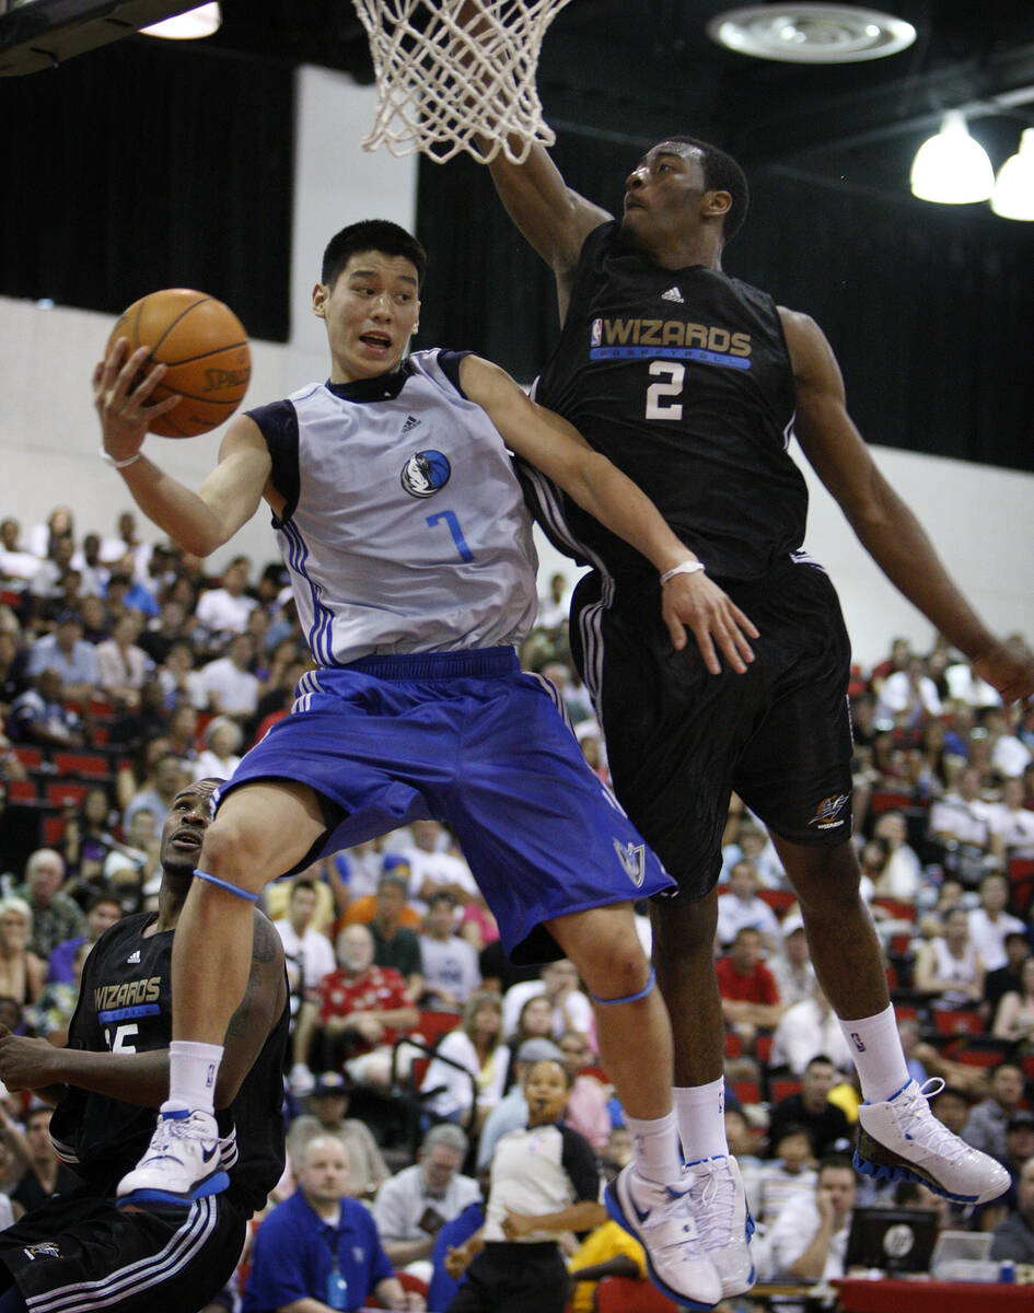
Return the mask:
<svg viewBox="0 0 1034 1313">
<path fill-rule="evenodd" d="M 608 1187 L 608 1208 L 647 1253 L 655 1284 L 709 1306 L 722 1279 L 695 1237 L 672 1109 L 672 1031 L 630 903 L 546 923 L 593 1001 L 600 1058 L 632 1133 L 635 1158 Z"/>
</svg>

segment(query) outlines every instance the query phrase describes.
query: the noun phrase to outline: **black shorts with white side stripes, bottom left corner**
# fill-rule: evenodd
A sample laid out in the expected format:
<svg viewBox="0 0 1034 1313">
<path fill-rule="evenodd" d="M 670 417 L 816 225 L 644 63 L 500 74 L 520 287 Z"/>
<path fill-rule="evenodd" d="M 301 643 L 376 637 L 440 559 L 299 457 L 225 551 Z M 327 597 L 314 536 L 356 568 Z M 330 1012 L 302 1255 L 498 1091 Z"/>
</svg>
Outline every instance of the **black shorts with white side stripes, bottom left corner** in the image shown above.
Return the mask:
<svg viewBox="0 0 1034 1313">
<path fill-rule="evenodd" d="M 155 1212 L 85 1191 L 0 1232 L 0 1289 L 31 1313 L 194 1313 L 230 1280 L 247 1215 L 227 1195 Z"/>
</svg>

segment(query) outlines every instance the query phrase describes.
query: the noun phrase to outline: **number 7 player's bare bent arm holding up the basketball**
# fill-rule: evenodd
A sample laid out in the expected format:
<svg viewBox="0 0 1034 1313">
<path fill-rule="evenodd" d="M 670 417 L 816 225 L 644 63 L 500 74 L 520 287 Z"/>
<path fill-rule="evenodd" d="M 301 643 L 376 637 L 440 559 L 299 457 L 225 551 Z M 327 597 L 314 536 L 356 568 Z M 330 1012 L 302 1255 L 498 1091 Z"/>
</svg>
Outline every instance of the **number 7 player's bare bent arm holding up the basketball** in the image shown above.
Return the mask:
<svg viewBox="0 0 1034 1313">
<path fill-rule="evenodd" d="M 178 398 L 151 402 L 165 374 L 155 365 L 140 379 L 147 347 L 127 355 L 129 340 L 119 337 L 93 370 L 93 404 L 101 421 L 101 442 L 119 469 L 126 487 L 143 513 L 185 551 L 198 557 L 220 548 L 258 508 L 272 461 L 258 425 L 238 416 L 223 437 L 219 463 L 197 492 L 165 474 L 140 452 L 147 425 L 172 410 Z"/>
</svg>

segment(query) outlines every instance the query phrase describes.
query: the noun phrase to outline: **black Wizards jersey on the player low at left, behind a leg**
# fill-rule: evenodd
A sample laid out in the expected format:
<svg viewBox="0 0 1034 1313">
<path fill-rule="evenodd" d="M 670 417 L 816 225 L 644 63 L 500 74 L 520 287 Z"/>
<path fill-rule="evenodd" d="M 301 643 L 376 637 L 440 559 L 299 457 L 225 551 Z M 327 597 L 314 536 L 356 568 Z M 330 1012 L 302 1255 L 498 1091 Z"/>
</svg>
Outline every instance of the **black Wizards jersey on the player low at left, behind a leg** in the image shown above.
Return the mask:
<svg viewBox="0 0 1034 1313">
<path fill-rule="evenodd" d="M 83 969 L 68 1048 L 147 1053 L 169 1046 L 173 932 L 144 935 L 152 920 L 150 913 L 126 916 L 94 944 Z M 230 1108 L 239 1153 L 230 1169 L 230 1194 L 248 1211 L 264 1207 L 283 1171 L 282 1064 L 289 1023 L 285 1003 Z M 154 1129 L 154 1108 L 72 1086 L 50 1123 L 62 1158 L 100 1194 L 113 1192 L 136 1165 Z"/>
</svg>

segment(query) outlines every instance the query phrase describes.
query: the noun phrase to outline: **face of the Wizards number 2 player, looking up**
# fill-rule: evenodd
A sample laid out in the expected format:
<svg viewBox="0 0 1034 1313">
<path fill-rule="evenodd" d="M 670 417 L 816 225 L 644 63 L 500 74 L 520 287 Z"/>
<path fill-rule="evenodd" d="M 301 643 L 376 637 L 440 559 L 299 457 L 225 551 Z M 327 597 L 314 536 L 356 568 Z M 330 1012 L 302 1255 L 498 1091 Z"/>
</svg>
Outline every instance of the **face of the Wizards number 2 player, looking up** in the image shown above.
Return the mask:
<svg viewBox="0 0 1034 1313">
<path fill-rule="evenodd" d="M 625 180 L 621 231 L 634 246 L 655 252 L 693 228 L 703 194 L 697 147 L 660 142 Z"/>
</svg>

